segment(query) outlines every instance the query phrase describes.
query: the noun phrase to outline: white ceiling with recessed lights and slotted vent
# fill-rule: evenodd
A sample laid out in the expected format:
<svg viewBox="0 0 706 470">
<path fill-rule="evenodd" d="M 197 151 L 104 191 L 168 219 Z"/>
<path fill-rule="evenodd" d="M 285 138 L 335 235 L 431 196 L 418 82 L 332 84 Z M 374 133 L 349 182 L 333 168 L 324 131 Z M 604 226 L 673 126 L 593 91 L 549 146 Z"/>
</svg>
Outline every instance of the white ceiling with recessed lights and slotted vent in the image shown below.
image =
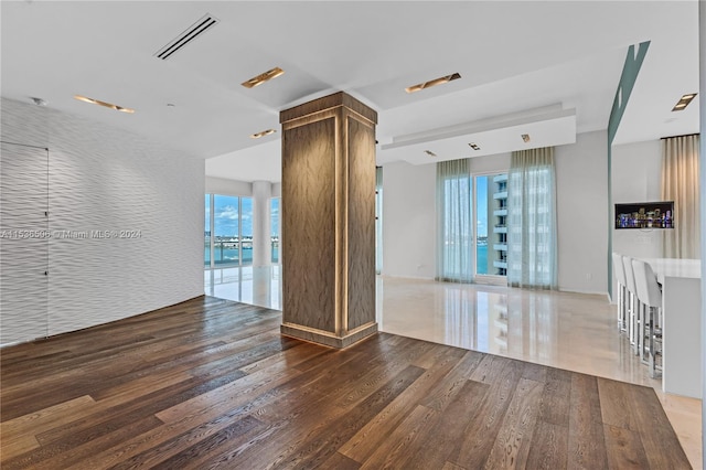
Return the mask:
<svg viewBox="0 0 706 470">
<path fill-rule="evenodd" d="M 339 90 L 378 111 L 378 163 L 573 142 L 606 129 L 628 47 L 651 41 L 616 137 L 624 143 L 698 131 L 696 103 L 671 113 L 698 90 L 697 12 L 697 1 L 3 0 L 1 94 L 149 135 L 207 159 L 210 175 L 279 181 L 279 133 L 249 135 Z M 153 56 L 205 13 L 220 23 Z M 285 75 L 240 86 L 275 66 Z M 404 90 L 454 72 L 462 78 Z"/>
</svg>

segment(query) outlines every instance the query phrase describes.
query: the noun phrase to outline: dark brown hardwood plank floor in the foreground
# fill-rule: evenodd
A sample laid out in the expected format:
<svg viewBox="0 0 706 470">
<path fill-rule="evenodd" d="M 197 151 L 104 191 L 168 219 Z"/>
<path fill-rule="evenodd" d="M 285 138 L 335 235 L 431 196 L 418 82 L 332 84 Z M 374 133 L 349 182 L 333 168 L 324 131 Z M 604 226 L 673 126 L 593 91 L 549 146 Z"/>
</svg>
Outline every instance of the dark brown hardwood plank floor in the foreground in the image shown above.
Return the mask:
<svg viewBox="0 0 706 470">
<path fill-rule="evenodd" d="M 3 470 L 686 469 L 649 387 L 199 298 L 6 348 Z"/>
</svg>

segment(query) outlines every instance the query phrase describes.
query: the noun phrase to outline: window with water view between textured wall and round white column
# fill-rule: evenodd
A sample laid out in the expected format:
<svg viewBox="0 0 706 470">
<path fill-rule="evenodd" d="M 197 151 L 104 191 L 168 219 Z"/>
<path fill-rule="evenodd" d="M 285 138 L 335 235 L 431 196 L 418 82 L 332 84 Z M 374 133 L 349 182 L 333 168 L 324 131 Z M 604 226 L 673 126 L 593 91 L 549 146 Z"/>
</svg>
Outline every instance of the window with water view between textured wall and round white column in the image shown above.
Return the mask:
<svg viewBox="0 0 706 470">
<path fill-rule="evenodd" d="M 205 196 L 204 265 L 253 263 L 253 197 Z"/>
</svg>

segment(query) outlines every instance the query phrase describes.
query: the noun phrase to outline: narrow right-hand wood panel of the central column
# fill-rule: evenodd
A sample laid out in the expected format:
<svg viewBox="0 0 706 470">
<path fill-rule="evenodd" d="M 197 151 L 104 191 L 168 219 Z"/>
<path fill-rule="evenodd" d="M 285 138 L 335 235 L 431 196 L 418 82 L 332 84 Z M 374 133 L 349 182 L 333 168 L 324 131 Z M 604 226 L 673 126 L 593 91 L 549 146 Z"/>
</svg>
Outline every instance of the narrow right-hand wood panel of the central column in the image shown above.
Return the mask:
<svg viewBox="0 0 706 470">
<path fill-rule="evenodd" d="M 349 329 L 375 320 L 375 129 L 347 116 Z"/>
</svg>

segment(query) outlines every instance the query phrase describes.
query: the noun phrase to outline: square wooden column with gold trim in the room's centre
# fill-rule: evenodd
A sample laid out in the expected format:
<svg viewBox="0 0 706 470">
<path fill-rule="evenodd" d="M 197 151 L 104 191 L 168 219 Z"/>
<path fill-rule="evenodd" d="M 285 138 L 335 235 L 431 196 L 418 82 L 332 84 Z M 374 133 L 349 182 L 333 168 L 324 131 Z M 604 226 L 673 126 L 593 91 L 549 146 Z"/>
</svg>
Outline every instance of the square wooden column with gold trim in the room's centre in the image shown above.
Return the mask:
<svg viewBox="0 0 706 470">
<path fill-rule="evenodd" d="M 375 321 L 377 113 L 336 93 L 280 113 L 282 334 L 345 348 Z"/>
</svg>

